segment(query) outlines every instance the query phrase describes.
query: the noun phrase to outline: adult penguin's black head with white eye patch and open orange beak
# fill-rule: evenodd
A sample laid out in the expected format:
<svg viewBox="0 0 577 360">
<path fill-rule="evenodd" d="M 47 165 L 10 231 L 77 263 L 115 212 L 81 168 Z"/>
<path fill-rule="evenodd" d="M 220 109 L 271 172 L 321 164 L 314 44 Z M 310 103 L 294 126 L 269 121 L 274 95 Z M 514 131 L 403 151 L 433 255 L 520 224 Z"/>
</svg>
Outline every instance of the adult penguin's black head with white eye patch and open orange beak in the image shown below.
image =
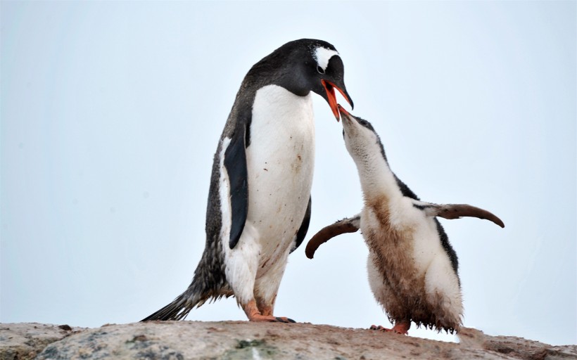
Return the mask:
<svg viewBox="0 0 577 360">
<path fill-rule="evenodd" d="M 300 39 L 290 41 L 256 63 L 249 75 L 265 76 L 270 84 L 283 86 L 298 96 L 310 91 L 322 96 L 339 119 L 335 89 L 353 107 L 344 82 L 345 68 L 335 47 L 326 41 Z"/>
</svg>

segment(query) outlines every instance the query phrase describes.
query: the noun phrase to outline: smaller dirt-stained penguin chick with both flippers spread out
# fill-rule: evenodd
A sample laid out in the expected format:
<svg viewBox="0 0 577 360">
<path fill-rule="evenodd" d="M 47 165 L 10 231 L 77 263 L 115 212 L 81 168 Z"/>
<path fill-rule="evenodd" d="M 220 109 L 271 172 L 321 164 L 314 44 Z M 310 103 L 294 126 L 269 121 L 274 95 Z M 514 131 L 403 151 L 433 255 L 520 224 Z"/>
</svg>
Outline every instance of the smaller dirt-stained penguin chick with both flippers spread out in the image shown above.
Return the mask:
<svg viewBox="0 0 577 360">
<path fill-rule="evenodd" d="M 355 217 L 337 221 L 307 243 L 306 254 L 341 233 L 361 229 L 369 248 L 369 284 L 392 329 L 407 334 L 411 321 L 453 333 L 462 324 L 457 254 L 436 217 L 478 217 L 504 227 L 486 210 L 471 205 L 420 201 L 391 171 L 379 136 L 366 120 L 339 105 L 345 146 L 360 177 L 364 207 Z"/>
</svg>

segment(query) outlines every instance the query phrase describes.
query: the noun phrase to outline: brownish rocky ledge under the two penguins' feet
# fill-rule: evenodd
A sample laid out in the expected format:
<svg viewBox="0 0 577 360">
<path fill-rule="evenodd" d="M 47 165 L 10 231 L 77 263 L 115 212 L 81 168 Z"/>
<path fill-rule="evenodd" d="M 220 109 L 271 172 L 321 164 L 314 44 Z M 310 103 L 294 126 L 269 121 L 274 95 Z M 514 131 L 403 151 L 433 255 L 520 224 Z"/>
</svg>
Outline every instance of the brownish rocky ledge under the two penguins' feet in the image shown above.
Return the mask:
<svg viewBox="0 0 577 360">
<path fill-rule="evenodd" d="M 0 359 L 577 359 L 577 346 L 489 336 L 459 344 L 311 323 L 164 321 L 72 328 L 0 324 Z"/>
</svg>

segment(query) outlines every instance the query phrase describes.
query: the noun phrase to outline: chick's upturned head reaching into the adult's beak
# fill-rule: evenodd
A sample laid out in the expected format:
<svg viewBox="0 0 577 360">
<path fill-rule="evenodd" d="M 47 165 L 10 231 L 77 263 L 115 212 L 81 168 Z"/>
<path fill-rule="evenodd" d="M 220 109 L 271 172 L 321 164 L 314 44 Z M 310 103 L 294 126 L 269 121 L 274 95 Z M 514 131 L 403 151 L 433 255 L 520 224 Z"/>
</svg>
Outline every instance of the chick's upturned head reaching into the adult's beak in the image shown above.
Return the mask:
<svg viewBox="0 0 577 360">
<path fill-rule="evenodd" d="M 382 156 L 386 160 L 385 149 L 381 138 L 376 134 L 370 122 L 355 117 L 348 113 L 340 104 L 338 111 L 343 118 L 343 137 L 345 146 L 355 162 L 373 161 L 375 157 Z"/>
</svg>

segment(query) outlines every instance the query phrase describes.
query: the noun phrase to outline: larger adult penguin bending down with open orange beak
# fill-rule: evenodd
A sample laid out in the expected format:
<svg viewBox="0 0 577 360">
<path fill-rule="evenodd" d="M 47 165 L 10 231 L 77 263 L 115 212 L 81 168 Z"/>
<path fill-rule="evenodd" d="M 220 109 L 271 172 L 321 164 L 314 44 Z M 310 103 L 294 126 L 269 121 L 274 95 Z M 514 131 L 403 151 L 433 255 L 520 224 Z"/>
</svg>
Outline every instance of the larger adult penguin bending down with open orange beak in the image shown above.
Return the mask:
<svg viewBox="0 0 577 360">
<path fill-rule="evenodd" d="M 310 220 L 315 160 L 311 91 L 338 120 L 335 89 L 351 107 L 343 61 L 326 41 L 291 41 L 244 77 L 220 136 L 210 178 L 206 243 L 189 287 L 143 321 L 184 319 L 234 295 L 250 321 L 273 316 L 289 253 Z"/>
</svg>

